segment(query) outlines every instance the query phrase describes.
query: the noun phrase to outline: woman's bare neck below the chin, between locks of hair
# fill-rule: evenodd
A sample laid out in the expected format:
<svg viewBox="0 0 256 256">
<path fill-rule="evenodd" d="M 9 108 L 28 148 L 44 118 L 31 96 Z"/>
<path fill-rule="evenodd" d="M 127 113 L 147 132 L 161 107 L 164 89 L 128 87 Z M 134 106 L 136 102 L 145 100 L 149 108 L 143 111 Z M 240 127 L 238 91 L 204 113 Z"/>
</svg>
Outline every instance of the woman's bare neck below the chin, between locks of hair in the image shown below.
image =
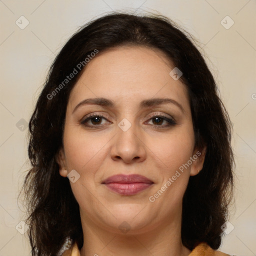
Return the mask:
<svg viewBox="0 0 256 256">
<path fill-rule="evenodd" d="M 188 256 L 191 251 L 181 242 L 180 226 L 181 219 L 171 222 L 166 220 L 143 233 L 129 230 L 120 234 L 82 221 L 83 246 L 80 255 Z"/>
</svg>

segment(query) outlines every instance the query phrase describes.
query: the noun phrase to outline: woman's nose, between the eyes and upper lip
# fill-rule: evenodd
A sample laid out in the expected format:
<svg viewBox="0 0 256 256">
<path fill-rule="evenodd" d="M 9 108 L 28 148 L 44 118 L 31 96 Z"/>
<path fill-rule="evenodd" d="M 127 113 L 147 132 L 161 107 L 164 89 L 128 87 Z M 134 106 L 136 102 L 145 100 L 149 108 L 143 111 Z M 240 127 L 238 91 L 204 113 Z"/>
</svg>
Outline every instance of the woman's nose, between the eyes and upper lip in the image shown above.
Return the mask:
<svg viewBox="0 0 256 256">
<path fill-rule="evenodd" d="M 116 126 L 116 135 L 111 146 L 111 158 L 125 163 L 144 161 L 146 145 L 143 141 L 142 130 L 139 130 L 134 123 L 127 130 L 120 127 Z"/>
</svg>

